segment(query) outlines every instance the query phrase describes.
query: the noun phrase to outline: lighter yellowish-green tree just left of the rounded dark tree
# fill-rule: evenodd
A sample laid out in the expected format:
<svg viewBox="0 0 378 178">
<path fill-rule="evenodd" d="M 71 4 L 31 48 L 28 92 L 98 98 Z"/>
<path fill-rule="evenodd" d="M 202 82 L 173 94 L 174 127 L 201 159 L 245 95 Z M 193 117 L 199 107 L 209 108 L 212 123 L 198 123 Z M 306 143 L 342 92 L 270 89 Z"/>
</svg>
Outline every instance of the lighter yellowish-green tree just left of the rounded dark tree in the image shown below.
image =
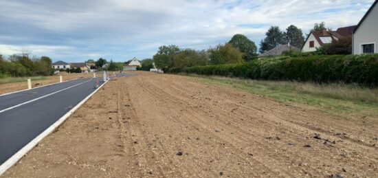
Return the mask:
<svg viewBox="0 0 378 178">
<path fill-rule="evenodd" d="M 243 53 L 232 47 L 230 43 L 225 45 L 218 45 L 214 49 L 209 49 L 210 51 L 210 64 L 229 64 L 229 63 L 242 63 Z"/>
</svg>

